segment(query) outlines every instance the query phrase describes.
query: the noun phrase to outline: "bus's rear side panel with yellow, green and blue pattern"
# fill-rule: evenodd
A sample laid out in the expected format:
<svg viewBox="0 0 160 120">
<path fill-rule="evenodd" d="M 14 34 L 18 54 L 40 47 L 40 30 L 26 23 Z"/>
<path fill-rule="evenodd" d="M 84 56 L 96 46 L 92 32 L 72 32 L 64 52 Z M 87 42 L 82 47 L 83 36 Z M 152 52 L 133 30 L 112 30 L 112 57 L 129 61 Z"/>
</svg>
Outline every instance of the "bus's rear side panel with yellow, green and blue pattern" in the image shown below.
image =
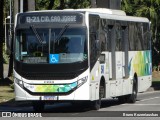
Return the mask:
<svg viewBox="0 0 160 120">
<path fill-rule="evenodd" d="M 135 51 L 129 52 L 130 79 L 134 74 L 138 77 L 138 92 L 146 91 L 152 83 L 152 63 L 151 51 Z"/>
</svg>

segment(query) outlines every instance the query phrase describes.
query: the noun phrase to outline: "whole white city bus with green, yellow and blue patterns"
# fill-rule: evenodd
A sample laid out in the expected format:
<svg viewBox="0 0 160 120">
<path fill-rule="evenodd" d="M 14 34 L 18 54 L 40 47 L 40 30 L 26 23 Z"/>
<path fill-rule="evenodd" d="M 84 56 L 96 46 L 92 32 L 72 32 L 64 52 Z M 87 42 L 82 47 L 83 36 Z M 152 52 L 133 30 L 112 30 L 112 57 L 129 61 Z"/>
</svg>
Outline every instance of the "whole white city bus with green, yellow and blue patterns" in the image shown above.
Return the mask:
<svg viewBox="0 0 160 120">
<path fill-rule="evenodd" d="M 150 21 L 121 10 L 66 9 L 19 13 L 15 19 L 17 101 L 134 103 L 151 86 Z"/>
</svg>

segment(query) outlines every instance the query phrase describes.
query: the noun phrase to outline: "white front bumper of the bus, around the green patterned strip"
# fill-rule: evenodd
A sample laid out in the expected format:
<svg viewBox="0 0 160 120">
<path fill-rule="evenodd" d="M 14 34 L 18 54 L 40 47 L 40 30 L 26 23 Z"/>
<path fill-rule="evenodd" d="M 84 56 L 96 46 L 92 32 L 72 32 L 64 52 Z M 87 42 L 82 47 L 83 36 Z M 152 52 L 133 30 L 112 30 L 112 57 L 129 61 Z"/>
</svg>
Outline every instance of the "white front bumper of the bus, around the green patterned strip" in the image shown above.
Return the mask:
<svg viewBox="0 0 160 120">
<path fill-rule="evenodd" d="M 75 91 L 73 91 L 71 94 L 69 95 L 54 95 L 54 96 L 58 96 L 57 100 L 90 100 L 90 90 L 89 90 L 89 83 L 90 83 L 90 78 L 88 76 L 89 74 L 89 69 L 86 70 L 83 74 L 79 75 L 78 78 L 84 78 L 87 76 L 87 81 L 80 87 L 78 87 Z M 15 93 L 16 93 L 16 100 L 43 100 L 42 97 L 43 96 L 52 96 L 52 95 L 31 95 L 30 93 L 28 93 L 27 91 L 24 90 L 24 85 L 20 85 L 19 81 L 23 81 L 23 84 L 27 83 L 29 84 L 28 87 L 33 87 L 33 85 L 41 85 L 41 87 L 43 87 L 43 85 L 49 85 L 49 84 L 45 84 L 46 81 L 54 81 L 54 84 L 69 84 L 69 83 L 73 83 L 73 82 L 77 82 L 79 79 L 75 78 L 72 81 L 67 81 L 64 80 L 62 81 L 57 81 L 57 80 L 37 80 L 37 81 L 31 81 L 31 80 L 27 80 L 24 79 L 22 77 L 20 77 L 16 71 L 14 71 L 14 77 L 15 77 Z M 18 82 L 17 82 L 18 80 Z M 21 86 L 21 87 L 20 87 Z M 35 87 L 34 86 L 34 87 Z M 36 88 L 34 88 L 35 90 Z M 34 92 L 33 92 L 34 93 Z M 84 94 L 85 93 L 85 94 Z"/>
</svg>

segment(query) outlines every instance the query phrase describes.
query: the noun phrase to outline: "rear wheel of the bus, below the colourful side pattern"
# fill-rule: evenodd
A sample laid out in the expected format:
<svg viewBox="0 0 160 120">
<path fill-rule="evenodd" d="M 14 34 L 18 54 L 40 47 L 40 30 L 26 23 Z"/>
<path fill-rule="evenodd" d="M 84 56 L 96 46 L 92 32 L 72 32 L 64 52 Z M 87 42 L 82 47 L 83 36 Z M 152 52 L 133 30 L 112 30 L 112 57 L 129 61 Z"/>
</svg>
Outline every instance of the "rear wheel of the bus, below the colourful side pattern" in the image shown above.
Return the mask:
<svg viewBox="0 0 160 120">
<path fill-rule="evenodd" d="M 137 99 L 137 82 L 133 80 L 132 94 L 127 96 L 127 101 L 129 103 L 135 103 L 136 99 Z"/>
</svg>

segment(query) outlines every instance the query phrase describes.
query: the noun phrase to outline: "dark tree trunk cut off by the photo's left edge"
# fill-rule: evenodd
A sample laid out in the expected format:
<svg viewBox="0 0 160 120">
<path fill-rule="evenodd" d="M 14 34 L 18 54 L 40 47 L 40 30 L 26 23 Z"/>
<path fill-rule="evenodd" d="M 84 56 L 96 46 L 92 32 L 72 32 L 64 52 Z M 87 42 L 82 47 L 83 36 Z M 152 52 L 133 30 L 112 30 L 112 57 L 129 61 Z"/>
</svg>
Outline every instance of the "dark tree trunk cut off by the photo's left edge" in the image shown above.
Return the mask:
<svg viewBox="0 0 160 120">
<path fill-rule="evenodd" d="M 4 79 L 3 76 L 3 5 L 4 0 L 0 1 L 0 78 Z"/>
</svg>

